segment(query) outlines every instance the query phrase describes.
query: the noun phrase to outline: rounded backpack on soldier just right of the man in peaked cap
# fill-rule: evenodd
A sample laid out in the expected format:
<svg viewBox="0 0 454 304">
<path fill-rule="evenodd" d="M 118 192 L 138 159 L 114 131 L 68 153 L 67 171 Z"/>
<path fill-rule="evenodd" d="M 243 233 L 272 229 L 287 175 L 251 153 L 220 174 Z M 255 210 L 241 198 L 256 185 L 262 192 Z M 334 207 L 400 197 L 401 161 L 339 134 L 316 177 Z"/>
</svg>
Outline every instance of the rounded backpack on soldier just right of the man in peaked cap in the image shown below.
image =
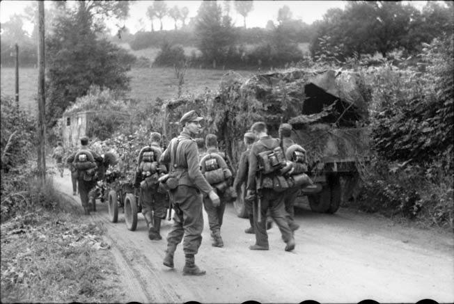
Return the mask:
<svg viewBox="0 0 454 304">
<path fill-rule="evenodd" d="M 208 184 L 219 191 L 224 191 L 228 187 L 226 180 L 232 177 L 232 172 L 227 168 L 227 163 L 220 153 L 206 154 L 202 157 L 200 164 L 202 168 L 205 168 L 203 176 Z"/>
</svg>

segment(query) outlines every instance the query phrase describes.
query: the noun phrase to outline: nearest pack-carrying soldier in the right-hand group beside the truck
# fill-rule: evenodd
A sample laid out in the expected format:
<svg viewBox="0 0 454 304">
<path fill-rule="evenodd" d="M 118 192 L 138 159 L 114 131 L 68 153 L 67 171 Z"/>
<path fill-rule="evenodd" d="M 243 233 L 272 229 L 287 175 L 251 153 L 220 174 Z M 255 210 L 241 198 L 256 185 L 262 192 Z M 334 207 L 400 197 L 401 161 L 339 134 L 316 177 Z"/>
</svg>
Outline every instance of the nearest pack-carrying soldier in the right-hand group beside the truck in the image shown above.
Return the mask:
<svg viewBox="0 0 454 304">
<path fill-rule="evenodd" d="M 283 194 L 275 188 L 274 179 L 279 180 L 279 165 L 285 159 L 279 147 L 280 141 L 267 134 L 265 122 L 255 122 L 251 131 L 258 138 L 253 143 L 249 153 L 249 173 L 247 180 L 246 200 L 253 200 L 253 221 L 256 232 L 256 243 L 250 246 L 251 250 L 268 250 L 268 234 L 266 230 L 267 210 L 281 231 L 282 239 L 287 244 L 285 251 L 295 249 L 295 238 L 285 218 Z M 259 163 L 260 159 L 260 163 Z M 259 166 L 260 165 L 260 166 Z M 276 170 L 277 168 L 277 170 Z M 265 184 L 265 178 L 272 180 Z"/>
</svg>

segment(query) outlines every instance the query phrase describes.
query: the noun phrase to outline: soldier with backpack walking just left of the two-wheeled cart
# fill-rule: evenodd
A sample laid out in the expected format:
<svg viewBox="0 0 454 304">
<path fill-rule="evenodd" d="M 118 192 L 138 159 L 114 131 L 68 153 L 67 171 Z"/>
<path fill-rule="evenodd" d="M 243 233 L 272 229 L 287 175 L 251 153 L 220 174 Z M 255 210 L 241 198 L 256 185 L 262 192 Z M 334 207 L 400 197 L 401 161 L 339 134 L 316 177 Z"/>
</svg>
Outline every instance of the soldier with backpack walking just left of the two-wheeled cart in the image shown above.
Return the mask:
<svg viewBox="0 0 454 304">
<path fill-rule="evenodd" d="M 80 139 L 81 148 L 75 153 L 72 153 L 66 162 L 72 164 L 77 170 L 77 184 L 79 184 L 79 194 L 82 207 L 86 215 L 90 215 L 90 207 L 88 206 L 88 193 L 96 184 L 96 162 L 102 161 L 100 154 L 88 149 L 88 137 L 84 136 Z"/>
</svg>

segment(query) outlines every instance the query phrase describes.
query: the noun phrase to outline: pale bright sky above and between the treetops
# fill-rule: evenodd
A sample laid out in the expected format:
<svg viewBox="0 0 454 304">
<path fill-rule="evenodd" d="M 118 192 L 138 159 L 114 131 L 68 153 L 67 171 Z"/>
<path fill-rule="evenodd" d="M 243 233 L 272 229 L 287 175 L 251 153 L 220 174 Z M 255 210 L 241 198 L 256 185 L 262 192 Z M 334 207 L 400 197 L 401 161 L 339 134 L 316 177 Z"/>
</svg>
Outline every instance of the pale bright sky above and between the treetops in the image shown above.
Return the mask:
<svg viewBox="0 0 454 304">
<path fill-rule="evenodd" d="M 20 0 L 3 0 L 0 2 L 0 22 L 6 22 L 11 15 L 21 14 L 26 6 L 29 6 L 33 1 L 20 1 Z M 47 2 L 47 1 L 46 1 Z M 202 1 L 166 1 L 168 7 L 178 6 L 182 8 L 187 6 L 189 8 L 189 18 L 194 17 L 197 14 L 197 10 L 201 5 Z M 218 1 L 222 6 L 223 1 Z M 234 5 L 230 1 L 230 15 L 233 18 L 233 22 L 236 26 L 243 25 L 243 17 L 238 15 L 235 11 Z M 426 1 L 411 1 L 416 7 L 421 8 Z M 315 20 L 322 19 L 324 13 L 329 8 L 345 8 L 347 1 L 265 1 L 265 0 L 254 0 L 253 10 L 246 17 L 246 26 L 250 27 L 265 27 L 268 20 L 276 22 L 277 12 L 279 8 L 288 6 L 292 11 L 292 17 L 294 19 L 302 19 L 303 22 L 311 24 Z M 47 6 L 49 3 L 45 3 Z M 125 21 L 125 26 L 130 29 L 131 33 L 136 33 L 141 29 L 145 31 L 151 30 L 150 19 L 146 17 L 146 11 L 148 6 L 152 5 L 152 1 L 134 1 L 130 6 L 130 17 Z M 188 18 L 188 20 L 189 20 Z M 170 17 L 164 17 L 162 20 L 163 29 L 171 30 L 174 28 L 173 19 Z M 114 29 L 114 23 L 107 24 L 111 29 L 112 33 L 116 33 Z M 159 20 L 155 20 L 155 30 L 159 29 Z M 26 31 L 31 32 L 33 29 L 32 24 L 26 24 Z"/>
</svg>

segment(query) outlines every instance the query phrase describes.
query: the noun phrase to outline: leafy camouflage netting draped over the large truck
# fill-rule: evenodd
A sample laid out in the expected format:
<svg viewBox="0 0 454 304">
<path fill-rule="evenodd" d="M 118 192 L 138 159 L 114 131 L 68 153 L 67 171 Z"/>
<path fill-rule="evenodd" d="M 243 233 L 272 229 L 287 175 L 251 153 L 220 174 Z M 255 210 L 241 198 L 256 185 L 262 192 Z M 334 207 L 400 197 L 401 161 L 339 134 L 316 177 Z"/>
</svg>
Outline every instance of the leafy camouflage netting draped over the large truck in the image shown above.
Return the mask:
<svg viewBox="0 0 454 304">
<path fill-rule="evenodd" d="M 216 94 L 164 103 L 163 129 L 169 136 L 178 134 L 174 122 L 194 109 L 206 118 L 202 136 L 217 134 L 236 163 L 244 150 L 242 136 L 253 122 L 265 121 L 272 136 L 289 122 L 295 141 L 314 160 L 357 157 L 367 151 L 367 136 L 358 127 L 367 123 L 369 102 L 370 90 L 354 72 L 292 69 L 249 79 L 229 72 Z"/>
</svg>

